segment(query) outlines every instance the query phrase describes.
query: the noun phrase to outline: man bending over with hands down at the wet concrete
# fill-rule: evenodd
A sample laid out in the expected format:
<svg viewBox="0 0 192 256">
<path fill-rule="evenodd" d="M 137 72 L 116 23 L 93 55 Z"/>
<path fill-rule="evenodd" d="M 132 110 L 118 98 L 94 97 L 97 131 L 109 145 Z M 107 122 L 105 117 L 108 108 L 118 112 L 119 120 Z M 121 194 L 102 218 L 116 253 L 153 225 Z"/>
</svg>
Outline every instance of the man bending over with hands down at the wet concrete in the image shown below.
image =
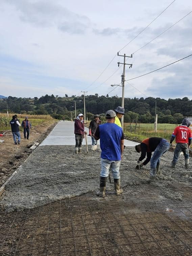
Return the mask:
<svg viewBox="0 0 192 256">
<path fill-rule="evenodd" d="M 141 152 L 141 156 L 138 159 L 138 165 L 136 169 L 141 169 L 144 165 L 146 165 L 150 161 L 150 176 L 147 182 L 154 181 L 156 173 L 159 172 L 160 168 L 160 157 L 165 154 L 169 150 L 169 141 L 163 138 L 151 137 L 143 140 L 141 144 L 136 145 L 135 149 L 138 153 Z M 153 156 L 151 158 L 151 154 Z M 147 158 L 143 163 L 140 163 L 146 156 Z"/>
</svg>

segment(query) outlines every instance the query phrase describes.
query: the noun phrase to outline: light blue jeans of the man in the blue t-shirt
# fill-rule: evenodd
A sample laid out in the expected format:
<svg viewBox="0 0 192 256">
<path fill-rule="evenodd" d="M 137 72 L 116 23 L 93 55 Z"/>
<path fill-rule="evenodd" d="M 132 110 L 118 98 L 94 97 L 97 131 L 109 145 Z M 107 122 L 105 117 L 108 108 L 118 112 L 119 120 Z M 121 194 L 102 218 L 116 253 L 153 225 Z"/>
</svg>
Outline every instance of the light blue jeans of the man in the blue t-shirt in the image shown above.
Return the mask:
<svg viewBox="0 0 192 256">
<path fill-rule="evenodd" d="M 112 176 L 114 179 L 120 179 L 119 168 L 120 168 L 121 160 L 120 161 L 110 161 L 108 159 L 101 158 L 101 177 L 108 177 L 109 176 L 109 169 L 111 167 Z"/>
</svg>

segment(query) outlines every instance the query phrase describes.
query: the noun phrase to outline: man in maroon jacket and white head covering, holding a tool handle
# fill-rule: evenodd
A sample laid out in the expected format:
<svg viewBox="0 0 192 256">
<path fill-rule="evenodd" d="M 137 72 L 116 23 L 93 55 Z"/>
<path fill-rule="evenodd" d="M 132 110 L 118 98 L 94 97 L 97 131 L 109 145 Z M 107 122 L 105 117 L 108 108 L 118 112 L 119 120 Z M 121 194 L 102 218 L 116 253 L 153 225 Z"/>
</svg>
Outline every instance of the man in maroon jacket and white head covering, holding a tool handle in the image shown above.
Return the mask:
<svg viewBox="0 0 192 256">
<path fill-rule="evenodd" d="M 79 114 L 75 118 L 75 154 L 81 153 L 81 144 L 83 141 L 84 134 L 87 134 L 87 132 L 84 129 L 84 121 L 83 121 L 83 114 Z"/>
</svg>

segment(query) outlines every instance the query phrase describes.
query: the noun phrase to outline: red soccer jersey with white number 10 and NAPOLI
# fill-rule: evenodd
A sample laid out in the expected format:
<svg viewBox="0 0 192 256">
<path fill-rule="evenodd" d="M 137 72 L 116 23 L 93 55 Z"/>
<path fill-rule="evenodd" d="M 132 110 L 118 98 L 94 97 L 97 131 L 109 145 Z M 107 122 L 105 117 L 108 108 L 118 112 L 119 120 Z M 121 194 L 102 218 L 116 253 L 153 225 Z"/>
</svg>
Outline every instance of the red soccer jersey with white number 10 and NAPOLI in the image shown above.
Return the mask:
<svg viewBox="0 0 192 256">
<path fill-rule="evenodd" d="M 172 133 L 173 137 L 176 137 L 176 143 L 189 143 L 189 139 L 192 139 L 191 129 L 185 125 L 177 126 Z"/>
</svg>

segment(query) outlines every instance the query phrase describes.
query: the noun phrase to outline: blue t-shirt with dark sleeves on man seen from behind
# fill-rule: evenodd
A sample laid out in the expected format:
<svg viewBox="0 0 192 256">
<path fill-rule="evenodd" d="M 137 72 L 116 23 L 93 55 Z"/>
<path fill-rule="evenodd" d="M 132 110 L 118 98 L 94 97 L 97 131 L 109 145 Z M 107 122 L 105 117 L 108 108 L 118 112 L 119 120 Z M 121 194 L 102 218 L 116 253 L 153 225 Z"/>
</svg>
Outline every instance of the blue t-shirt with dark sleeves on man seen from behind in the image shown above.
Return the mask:
<svg viewBox="0 0 192 256">
<path fill-rule="evenodd" d="M 121 140 L 123 130 L 115 123 L 104 123 L 97 127 L 95 136 L 100 138 L 101 158 L 110 161 L 121 160 Z"/>
</svg>

